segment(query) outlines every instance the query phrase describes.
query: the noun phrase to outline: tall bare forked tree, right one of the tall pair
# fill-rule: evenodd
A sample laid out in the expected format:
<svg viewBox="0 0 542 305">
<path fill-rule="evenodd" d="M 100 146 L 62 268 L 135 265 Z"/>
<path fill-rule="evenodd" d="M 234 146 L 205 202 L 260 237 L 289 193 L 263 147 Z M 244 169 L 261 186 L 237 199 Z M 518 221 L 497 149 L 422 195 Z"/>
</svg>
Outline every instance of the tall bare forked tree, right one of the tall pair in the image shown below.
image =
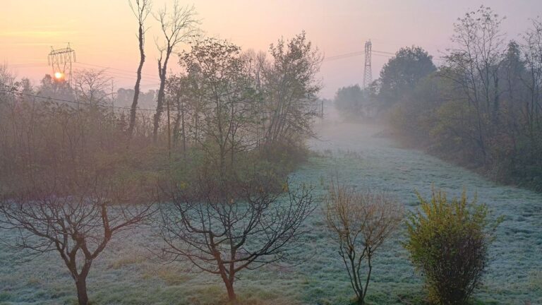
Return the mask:
<svg viewBox="0 0 542 305">
<path fill-rule="evenodd" d="M 159 44 L 157 42 L 157 48 L 160 52 L 160 57 L 158 59 L 158 76 L 160 78 L 160 87 L 158 90 L 156 114 L 154 117 L 153 137 L 155 141 L 157 140 L 158 136 L 160 117 L 164 111 L 164 90 L 167 80 L 167 64 L 169 57 L 171 56 L 171 53 L 174 52 L 174 49 L 178 44 L 187 42 L 188 39 L 195 35 L 195 33 L 198 31 L 198 29 L 195 28 L 195 25 L 198 24 L 198 20 L 195 20 L 194 17 L 195 8 L 193 6 L 181 6 L 179 5 L 179 1 L 174 1 L 173 11 L 171 13 L 168 14 L 167 8 L 164 6 L 162 10 L 158 11 L 157 16 L 155 16 L 160 23 L 160 29 L 164 35 L 163 44 Z M 167 106 L 169 112 L 169 103 Z"/>
</svg>

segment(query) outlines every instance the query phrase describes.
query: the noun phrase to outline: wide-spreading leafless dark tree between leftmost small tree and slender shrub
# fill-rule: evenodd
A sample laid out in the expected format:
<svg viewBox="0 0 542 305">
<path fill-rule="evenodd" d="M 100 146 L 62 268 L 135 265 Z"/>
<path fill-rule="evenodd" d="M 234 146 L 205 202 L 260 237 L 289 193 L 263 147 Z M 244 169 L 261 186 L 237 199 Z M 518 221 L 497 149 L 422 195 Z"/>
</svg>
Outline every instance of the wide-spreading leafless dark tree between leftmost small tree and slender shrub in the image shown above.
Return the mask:
<svg viewBox="0 0 542 305">
<path fill-rule="evenodd" d="M 203 178 L 174 189 L 172 203 L 160 208 L 164 254 L 219 275 L 235 303 L 237 273 L 288 261 L 303 241 L 303 221 L 314 210 L 311 189 L 292 191 L 286 183 L 282 198 L 271 184 L 265 178 L 235 184 Z"/>
</svg>

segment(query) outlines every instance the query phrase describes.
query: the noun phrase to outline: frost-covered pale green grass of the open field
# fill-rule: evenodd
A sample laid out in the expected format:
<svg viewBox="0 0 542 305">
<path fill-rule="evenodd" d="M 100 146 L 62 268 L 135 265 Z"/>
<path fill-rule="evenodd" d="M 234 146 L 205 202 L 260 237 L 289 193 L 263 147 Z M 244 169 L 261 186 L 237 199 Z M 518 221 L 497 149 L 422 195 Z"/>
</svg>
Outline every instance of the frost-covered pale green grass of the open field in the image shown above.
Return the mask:
<svg viewBox="0 0 542 305">
<path fill-rule="evenodd" d="M 324 128 L 325 127 L 325 128 Z M 292 175 L 294 183 L 325 193 L 330 174 L 344 184 L 385 189 L 407 208 L 416 208 L 417 189 L 428 196 L 431 184 L 489 205 L 492 217 L 505 217 L 490 249 L 491 263 L 476 304 L 542 304 L 542 195 L 498 186 L 465 169 L 415 150 L 397 148 L 375 138 L 375 126 L 322 126 L 311 157 Z M 320 214 L 306 223 L 311 241 L 303 263 L 289 268 L 270 265 L 241 272 L 236 282 L 245 304 L 349 304 L 353 296 L 335 245 L 328 239 Z M 147 249 L 159 241 L 150 227 L 114 239 L 92 266 L 88 278 L 92 304 L 217 304 L 226 295 L 218 277 L 189 265 L 164 265 Z M 12 239 L 2 231 L 2 239 Z M 400 244 L 404 232 L 387 242 L 376 258 L 369 287 L 370 304 L 421 304 L 423 284 Z M 75 286 L 55 253 L 18 264 L 16 251 L 0 246 L 0 304 L 75 304 Z"/>
</svg>

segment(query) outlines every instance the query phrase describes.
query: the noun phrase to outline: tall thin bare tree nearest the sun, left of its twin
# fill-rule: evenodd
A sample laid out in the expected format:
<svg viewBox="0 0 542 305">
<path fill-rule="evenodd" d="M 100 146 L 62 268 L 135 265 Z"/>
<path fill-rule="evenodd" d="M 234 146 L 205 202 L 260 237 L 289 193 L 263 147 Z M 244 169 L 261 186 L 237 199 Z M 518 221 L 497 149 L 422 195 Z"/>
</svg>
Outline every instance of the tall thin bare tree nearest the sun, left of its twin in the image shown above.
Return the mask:
<svg viewBox="0 0 542 305">
<path fill-rule="evenodd" d="M 149 16 L 152 1 L 150 0 L 135 0 L 135 6 L 132 1 L 128 1 L 130 8 L 135 18 L 138 19 L 138 41 L 139 41 L 139 66 L 138 75 L 135 79 L 135 85 L 133 87 L 133 102 L 130 109 L 130 124 L 128 126 L 128 136 L 132 136 L 133 128 L 135 126 L 135 111 L 138 108 L 139 98 L 139 86 L 141 83 L 141 70 L 143 69 L 143 63 L 145 63 L 145 19 Z"/>
</svg>

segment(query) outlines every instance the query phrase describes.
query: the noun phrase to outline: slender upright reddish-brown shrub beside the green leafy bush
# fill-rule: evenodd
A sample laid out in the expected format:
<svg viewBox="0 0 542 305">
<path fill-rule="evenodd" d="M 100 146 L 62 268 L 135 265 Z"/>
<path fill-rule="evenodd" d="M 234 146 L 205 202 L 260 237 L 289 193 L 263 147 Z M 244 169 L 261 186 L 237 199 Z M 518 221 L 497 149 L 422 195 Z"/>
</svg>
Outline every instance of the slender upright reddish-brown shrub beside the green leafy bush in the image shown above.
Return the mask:
<svg viewBox="0 0 542 305">
<path fill-rule="evenodd" d="M 402 205 L 387 193 L 357 192 L 339 182 L 331 184 L 325 220 L 339 244 L 358 304 L 365 304 L 375 252 L 397 229 L 402 216 Z"/>
</svg>

